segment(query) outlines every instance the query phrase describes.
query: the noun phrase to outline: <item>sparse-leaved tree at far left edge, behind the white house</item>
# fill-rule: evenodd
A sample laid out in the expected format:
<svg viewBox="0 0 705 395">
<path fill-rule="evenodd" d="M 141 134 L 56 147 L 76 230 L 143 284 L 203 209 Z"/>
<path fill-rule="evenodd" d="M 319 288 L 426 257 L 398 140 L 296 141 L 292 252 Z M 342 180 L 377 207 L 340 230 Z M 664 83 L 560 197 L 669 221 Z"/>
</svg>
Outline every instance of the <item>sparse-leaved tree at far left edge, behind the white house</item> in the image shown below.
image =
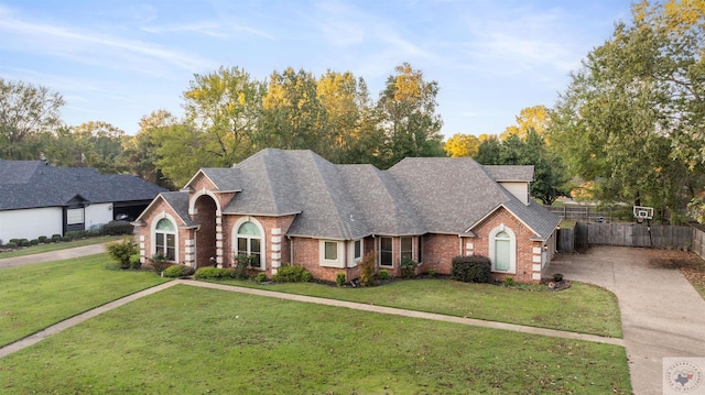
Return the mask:
<svg viewBox="0 0 705 395">
<path fill-rule="evenodd" d="M 42 86 L 0 78 L 0 157 L 37 160 L 41 133 L 62 124 L 59 110 L 64 98 Z"/>
</svg>

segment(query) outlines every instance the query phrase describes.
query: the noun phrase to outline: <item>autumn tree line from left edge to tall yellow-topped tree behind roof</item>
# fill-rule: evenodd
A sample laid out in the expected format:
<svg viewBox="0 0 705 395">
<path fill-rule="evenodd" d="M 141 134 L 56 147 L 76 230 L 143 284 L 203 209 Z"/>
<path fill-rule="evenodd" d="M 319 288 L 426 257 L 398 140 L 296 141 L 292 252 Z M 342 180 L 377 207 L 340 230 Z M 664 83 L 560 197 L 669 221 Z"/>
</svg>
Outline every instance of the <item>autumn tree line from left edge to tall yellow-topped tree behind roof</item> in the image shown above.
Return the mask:
<svg viewBox="0 0 705 395">
<path fill-rule="evenodd" d="M 313 150 L 334 163 L 388 168 L 405 156 L 441 156 L 438 84 L 404 63 L 378 100 L 362 78 L 286 68 L 256 80 L 239 67 L 195 75 L 185 114 L 144 116 L 127 135 L 105 122 L 66 127 L 64 100 L 46 88 L 0 80 L 0 154 L 57 166 L 128 172 L 160 185 L 184 185 L 200 167 L 227 167 L 265 147 Z"/>
</svg>

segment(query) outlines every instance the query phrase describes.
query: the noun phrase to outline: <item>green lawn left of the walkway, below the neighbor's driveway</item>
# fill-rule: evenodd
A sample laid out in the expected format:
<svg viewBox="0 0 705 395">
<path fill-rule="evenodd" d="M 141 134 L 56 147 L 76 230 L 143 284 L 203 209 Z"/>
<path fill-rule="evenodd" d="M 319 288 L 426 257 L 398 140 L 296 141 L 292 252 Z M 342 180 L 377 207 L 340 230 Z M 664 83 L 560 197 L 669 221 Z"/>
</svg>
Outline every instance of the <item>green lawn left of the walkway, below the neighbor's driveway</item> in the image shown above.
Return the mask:
<svg viewBox="0 0 705 395">
<path fill-rule="evenodd" d="M 106 270 L 107 254 L 0 268 L 0 345 L 164 278 L 147 271 Z"/>
</svg>

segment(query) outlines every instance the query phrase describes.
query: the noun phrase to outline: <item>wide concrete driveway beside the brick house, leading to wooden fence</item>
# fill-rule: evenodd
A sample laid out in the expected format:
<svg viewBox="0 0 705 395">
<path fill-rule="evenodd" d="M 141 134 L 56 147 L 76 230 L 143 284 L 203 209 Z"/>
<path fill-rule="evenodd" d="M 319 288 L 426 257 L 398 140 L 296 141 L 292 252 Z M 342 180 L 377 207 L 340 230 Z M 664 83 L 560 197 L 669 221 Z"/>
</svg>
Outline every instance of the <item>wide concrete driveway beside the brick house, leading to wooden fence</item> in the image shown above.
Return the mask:
<svg viewBox="0 0 705 395">
<path fill-rule="evenodd" d="M 633 393 L 662 394 L 662 359 L 705 358 L 705 300 L 671 260 L 684 252 L 596 246 L 557 255 L 550 274 L 617 295 Z"/>
</svg>

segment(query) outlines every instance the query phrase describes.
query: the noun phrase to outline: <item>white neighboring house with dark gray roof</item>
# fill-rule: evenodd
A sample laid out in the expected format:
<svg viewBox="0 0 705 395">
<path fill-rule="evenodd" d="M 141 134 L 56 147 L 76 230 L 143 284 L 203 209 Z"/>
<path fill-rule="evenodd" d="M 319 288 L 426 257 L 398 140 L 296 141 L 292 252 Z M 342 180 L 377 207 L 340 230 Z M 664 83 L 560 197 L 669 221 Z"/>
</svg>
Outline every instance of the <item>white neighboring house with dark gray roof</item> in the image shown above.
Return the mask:
<svg viewBox="0 0 705 395">
<path fill-rule="evenodd" d="M 165 190 L 135 176 L 90 167 L 0 160 L 0 244 L 134 219 Z"/>
</svg>

